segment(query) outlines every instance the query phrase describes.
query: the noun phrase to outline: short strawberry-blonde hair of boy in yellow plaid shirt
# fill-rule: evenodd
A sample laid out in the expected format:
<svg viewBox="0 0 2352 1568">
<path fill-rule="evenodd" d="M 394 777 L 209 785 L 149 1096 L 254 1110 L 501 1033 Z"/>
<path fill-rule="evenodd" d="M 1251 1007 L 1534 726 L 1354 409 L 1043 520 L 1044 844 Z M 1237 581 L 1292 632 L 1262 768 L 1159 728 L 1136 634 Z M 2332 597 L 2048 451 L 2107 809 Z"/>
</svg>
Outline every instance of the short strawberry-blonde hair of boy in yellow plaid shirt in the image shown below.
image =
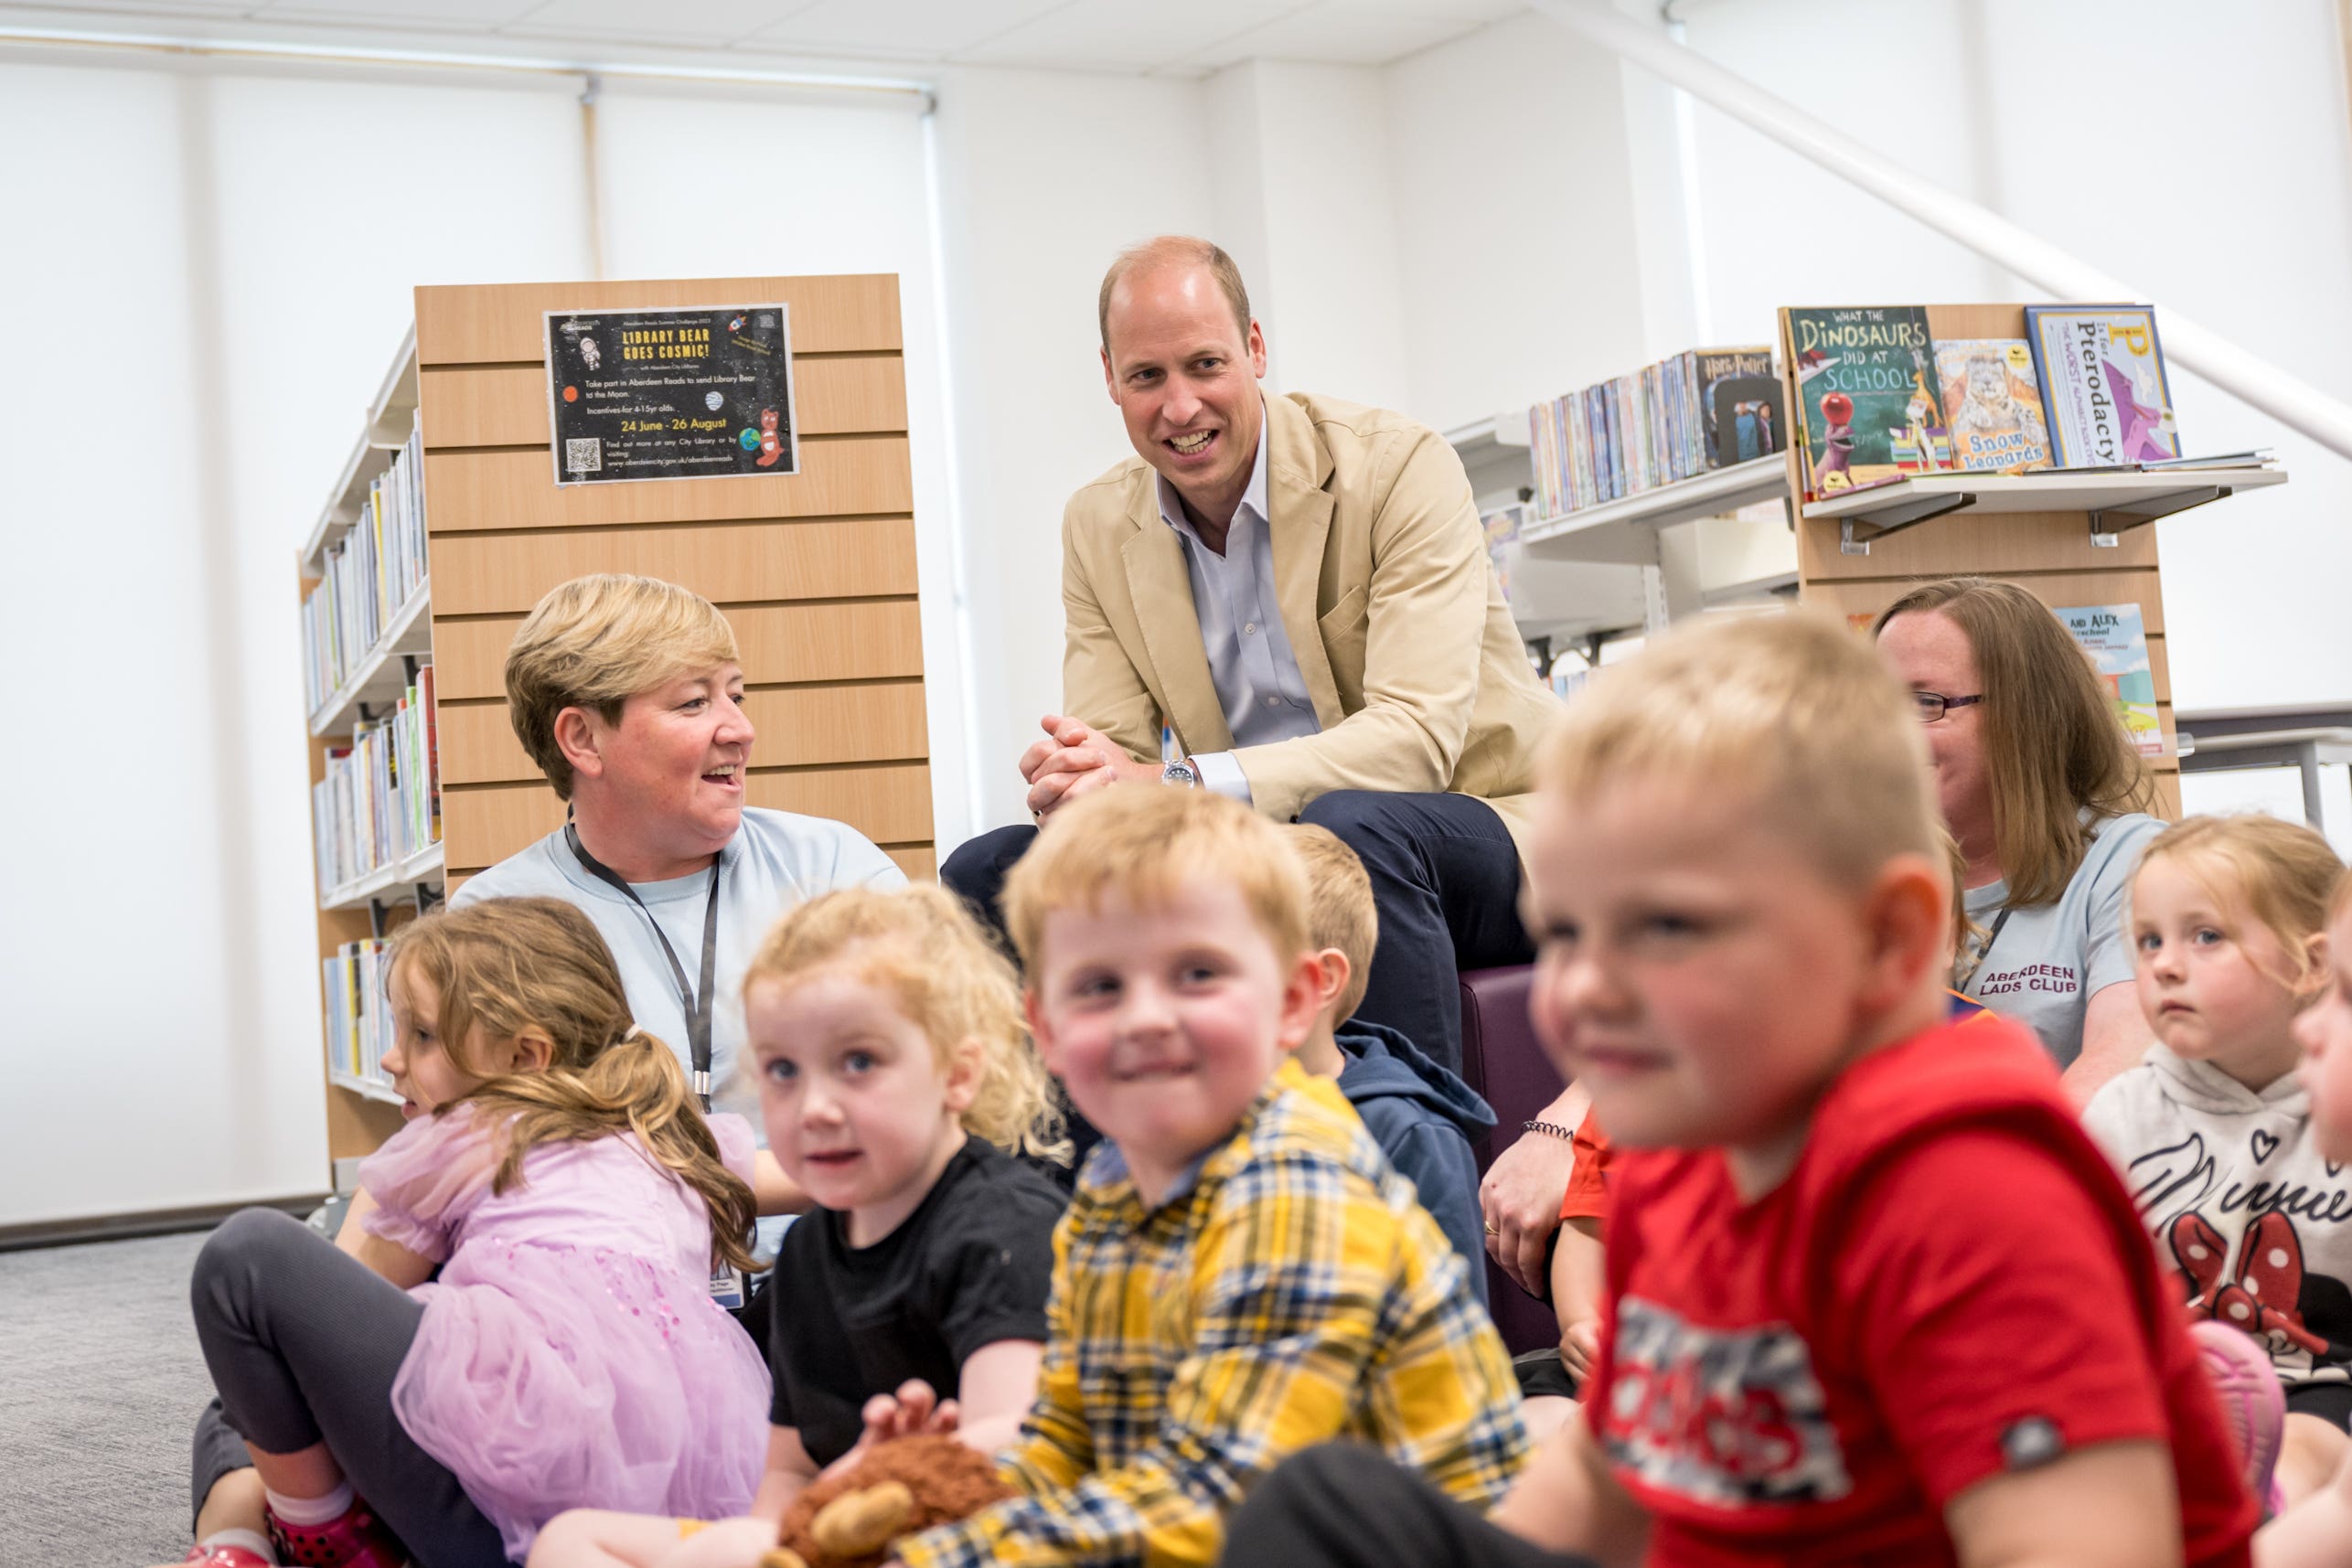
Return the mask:
<svg viewBox="0 0 2352 1568">
<path fill-rule="evenodd" d="M 1164 785 L 1101 790 L 1056 811 L 1004 879 L 1004 929 L 1035 987 L 1049 914 L 1101 912 L 1110 893 L 1167 903 L 1188 882 L 1240 891 L 1277 961 L 1308 952 L 1308 877 L 1282 830 L 1211 790 Z"/>
</svg>

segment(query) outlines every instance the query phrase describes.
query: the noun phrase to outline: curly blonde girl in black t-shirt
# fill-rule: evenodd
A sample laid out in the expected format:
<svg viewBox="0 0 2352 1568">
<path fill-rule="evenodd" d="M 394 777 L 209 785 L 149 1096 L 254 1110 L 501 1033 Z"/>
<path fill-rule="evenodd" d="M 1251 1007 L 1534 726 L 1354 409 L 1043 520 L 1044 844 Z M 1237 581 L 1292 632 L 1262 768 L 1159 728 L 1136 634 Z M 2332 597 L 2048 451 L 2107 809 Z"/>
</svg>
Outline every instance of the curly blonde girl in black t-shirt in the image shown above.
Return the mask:
<svg viewBox="0 0 2352 1568">
<path fill-rule="evenodd" d="M 769 1147 L 814 1204 L 767 1291 L 776 1387 L 753 1516 L 703 1530 L 574 1512 L 534 1563 L 750 1563 L 863 1441 L 955 1429 L 995 1450 L 1035 1401 L 1065 1199 L 1023 1159 L 1068 1145 L 1011 966 L 953 893 L 844 889 L 769 931 L 743 1018 Z"/>
</svg>

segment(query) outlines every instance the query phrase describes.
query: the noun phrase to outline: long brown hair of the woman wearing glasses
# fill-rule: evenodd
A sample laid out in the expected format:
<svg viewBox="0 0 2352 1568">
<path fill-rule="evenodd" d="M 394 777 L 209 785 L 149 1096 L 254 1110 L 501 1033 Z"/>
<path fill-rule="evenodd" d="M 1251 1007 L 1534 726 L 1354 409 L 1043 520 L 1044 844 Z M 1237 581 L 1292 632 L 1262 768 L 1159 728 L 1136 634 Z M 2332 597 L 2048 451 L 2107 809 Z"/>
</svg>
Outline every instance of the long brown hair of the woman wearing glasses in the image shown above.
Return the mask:
<svg viewBox="0 0 2352 1568">
<path fill-rule="evenodd" d="M 1922 583 L 1879 611 L 1870 635 L 1896 616 L 1926 614 L 1952 621 L 1976 658 L 1992 844 L 2009 903 L 2056 903 L 2100 818 L 2157 811 L 2154 776 L 2082 644 L 2032 592 L 1983 576 Z"/>
</svg>

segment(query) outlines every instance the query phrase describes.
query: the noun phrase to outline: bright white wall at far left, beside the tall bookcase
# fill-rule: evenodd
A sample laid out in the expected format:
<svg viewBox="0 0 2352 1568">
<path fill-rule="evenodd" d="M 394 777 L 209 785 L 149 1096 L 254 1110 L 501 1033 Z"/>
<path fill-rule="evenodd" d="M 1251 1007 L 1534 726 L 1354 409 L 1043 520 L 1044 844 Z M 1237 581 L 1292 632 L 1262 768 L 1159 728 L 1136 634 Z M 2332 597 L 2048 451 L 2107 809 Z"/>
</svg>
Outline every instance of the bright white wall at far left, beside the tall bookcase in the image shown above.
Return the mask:
<svg viewBox="0 0 2352 1568">
<path fill-rule="evenodd" d="M 412 282 L 579 268 L 572 113 L 0 63 L 0 1225 L 325 1185 L 292 548 Z"/>
</svg>

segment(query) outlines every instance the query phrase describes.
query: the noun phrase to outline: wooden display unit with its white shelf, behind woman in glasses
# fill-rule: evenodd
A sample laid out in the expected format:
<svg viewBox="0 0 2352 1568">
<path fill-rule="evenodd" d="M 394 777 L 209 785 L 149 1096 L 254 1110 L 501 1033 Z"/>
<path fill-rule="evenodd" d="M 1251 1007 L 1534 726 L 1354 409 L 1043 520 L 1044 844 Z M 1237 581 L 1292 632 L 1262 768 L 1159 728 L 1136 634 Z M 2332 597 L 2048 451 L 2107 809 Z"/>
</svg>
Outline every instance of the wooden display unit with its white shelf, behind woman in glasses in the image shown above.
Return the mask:
<svg viewBox="0 0 2352 1568">
<path fill-rule="evenodd" d="M 1929 334 L 2023 339 L 2025 306 L 1929 306 Z M 1802 418 L 1783 346 L 1790 425 Z M 1804 496 L 1804 454 L 1788 447 L 1790 496 Z M 1875 616 L 1931 578 L 1990 576 L 2044 604 L 2138 604 L 2157 684 L 2164 755 L 2150 757 L 2166 816 L 2180 816 L 2180 743 L 2164 635 L 2164 571 L 2147 527 L 2237 489 L 2281 484 L 2274 468 L 2171 475 L 1955 473 L 1816 501 L 1797 520 L 1797 597 L 1842 616 Z"/>
</svg>

